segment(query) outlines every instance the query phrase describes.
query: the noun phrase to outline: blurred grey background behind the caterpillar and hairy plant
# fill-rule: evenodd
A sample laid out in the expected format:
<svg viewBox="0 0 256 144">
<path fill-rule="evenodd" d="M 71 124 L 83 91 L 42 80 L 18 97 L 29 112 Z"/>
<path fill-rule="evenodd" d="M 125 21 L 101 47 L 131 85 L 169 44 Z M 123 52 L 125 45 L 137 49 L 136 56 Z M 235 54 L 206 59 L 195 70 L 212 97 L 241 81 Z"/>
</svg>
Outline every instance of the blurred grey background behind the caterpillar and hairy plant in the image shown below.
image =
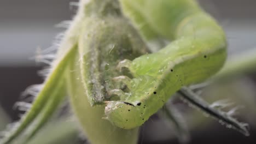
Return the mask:
<svg viewBox="0 0 256 144">
<path fill-rule="evenodd" d="M 55 36 L 65 29 L 55 25 L 70 20 L 76 7 L 69 0 L 0 0 L 0 129 L 19 119 L 13 108 L 24 89 L 43 81 L 37 75 L 42 68 L 32 57 L 38 47 L 46 49 Z M 74 1 L 72 1 L 74 2 Z M 229 56 L 256 49 L 256 1 L 201 0 L 203 8 L 224 27 L 229 41 Z M 190 143 L 256 143 L 255 74 L 237 76 L 207 87 L 202 96 L 209 102 L 230 98 L 246 108 L 238 115 L 251 125 L 251 136 L 245 137 L 205 117 L 190 107 L 183 108 L 191 132 Z M 216 97 L 217 95 L 217 97 Z M 2 108 L 1 108 L 2 107 Z M 185 107 L 185 108 L 184 108 Z M 193 113 L 193 115 L 191 115 Z M 158 116 L 142 127 L 140 143 L 177 143 L 171 129 Z"/>
</svg>

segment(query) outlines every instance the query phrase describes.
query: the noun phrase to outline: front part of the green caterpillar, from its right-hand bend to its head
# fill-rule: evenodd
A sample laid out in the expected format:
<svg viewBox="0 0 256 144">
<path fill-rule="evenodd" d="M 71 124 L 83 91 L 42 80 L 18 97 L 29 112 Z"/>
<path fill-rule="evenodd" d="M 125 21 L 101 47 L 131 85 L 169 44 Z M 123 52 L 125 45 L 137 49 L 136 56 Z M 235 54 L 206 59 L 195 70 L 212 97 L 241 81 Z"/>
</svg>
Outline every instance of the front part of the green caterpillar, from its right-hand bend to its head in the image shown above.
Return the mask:
<svg viewBox="0 0 256 144">
<path fill-rule="evenodd" d="M 168 10 L 171 15 L 178 11 Z M 128 97 L 120 93 L 120 98 L 124 99 L 106 102 L 107 119 L 114 125 L 124 129 L 142 125 L 181 87 L 201 82 L 222 68 L 226 59 L 226 39 L 222 28 L 199 8 L 193 6 L 187 11 L 191 12 L 181 13 L 182 16 L 176 16 L 169 22 L 171 29 L 176 29 L 169 36 L 155 31 L 166 39 L 174 38 L 171 44 L 158 52 L 119 63 L 118 68 L 128 68 L 134 78 L 129 83 L 130 91 L 125 93 Z M 168 27 L 165 28 L 168 32 Z"/>
</svg>

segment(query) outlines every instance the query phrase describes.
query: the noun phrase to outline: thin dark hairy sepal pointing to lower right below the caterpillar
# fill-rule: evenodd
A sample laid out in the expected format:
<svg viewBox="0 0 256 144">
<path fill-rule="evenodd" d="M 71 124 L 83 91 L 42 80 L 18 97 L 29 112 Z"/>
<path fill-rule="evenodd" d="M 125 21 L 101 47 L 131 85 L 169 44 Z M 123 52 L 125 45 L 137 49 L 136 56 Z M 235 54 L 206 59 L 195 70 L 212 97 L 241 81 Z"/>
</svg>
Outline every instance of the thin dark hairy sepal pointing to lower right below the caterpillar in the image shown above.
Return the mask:
<svg viewBox="0 0 256 144">
<path fill-rule="evenodd" d="M 189 103 L 199 107 L 199 109 L 203 110 L 204 112 L 208 113 L 214 118 L 219 119 L 222 123 L 226 124 L 228 128 L 233 128 L 245 136 L 249 136 L 248 131 L 248 124 L 238 122 L 235 118 L 231 117 L 230 113 L 234 113 L 231 110 L 230 112 L 223 112 L 217 109 L 214 109 L 213 106 L 209 105 L 206 101 L 201 99 L 197 94 L 191 91 L 187 87 L 183 87 L 181 90 L 178 91 L 182 97 L 189 101 Z"/>
</svg>

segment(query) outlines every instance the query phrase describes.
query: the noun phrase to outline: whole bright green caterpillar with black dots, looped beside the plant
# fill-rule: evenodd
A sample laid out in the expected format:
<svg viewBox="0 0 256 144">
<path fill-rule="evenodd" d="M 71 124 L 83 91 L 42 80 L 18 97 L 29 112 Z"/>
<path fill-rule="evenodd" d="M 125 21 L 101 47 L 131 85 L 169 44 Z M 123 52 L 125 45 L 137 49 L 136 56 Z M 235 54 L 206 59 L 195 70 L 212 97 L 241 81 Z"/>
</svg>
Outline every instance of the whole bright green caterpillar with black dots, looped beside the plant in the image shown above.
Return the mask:
<svg viewBox="0 0 256 144">
<path fill-rule="evenodd" d="M 174 40 L 164 49 L 119 63 L 133 79 L 117 77 L 130 89 L 116 89 L 119 101 L 107 101 L 107 119 L 120 128 L 142 125 L 181 87 L 201 82 L 222 68 L 226 59 L 226 38 L 218 23 L 194 1 L 120 1 L 146 39 Z M 130 13 L 133 11 L 133 13 Z M 136 14 L 135 14 L 136 13 Z"/>
</svg>

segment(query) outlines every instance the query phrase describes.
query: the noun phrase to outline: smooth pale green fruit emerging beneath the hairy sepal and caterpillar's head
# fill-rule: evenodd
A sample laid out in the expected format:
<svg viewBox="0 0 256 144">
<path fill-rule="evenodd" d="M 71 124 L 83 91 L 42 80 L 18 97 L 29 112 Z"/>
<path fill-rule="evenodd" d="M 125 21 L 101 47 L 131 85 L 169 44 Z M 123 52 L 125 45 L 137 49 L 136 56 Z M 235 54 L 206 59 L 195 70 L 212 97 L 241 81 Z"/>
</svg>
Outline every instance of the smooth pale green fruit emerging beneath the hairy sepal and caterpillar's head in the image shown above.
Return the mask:
<svg viewBox="0 0 256 144">
<path fill-rule="evenodd" d="M 74 63 L 78 61 L 78 57 L 74 58 L 69 64 L 69 71 L 67 71 L 67 83 L 69 94 L 71 94 L 70 101 L 73 106 L 80 125 L 86 129 L 85 135 L 93 144 L 132 144 L 137 143 L 138 128 L 132 130 L 125 130 L 115 127 L 104 116 L 105 105 L 91 106 L 88 97 L 84 94 L 83 83 L 79 76 L 79 66 Z M 81 97 L 80 95 L 84 95 Z M 81 113 L 83 112 L 83 115 Z"/>
</svg>

